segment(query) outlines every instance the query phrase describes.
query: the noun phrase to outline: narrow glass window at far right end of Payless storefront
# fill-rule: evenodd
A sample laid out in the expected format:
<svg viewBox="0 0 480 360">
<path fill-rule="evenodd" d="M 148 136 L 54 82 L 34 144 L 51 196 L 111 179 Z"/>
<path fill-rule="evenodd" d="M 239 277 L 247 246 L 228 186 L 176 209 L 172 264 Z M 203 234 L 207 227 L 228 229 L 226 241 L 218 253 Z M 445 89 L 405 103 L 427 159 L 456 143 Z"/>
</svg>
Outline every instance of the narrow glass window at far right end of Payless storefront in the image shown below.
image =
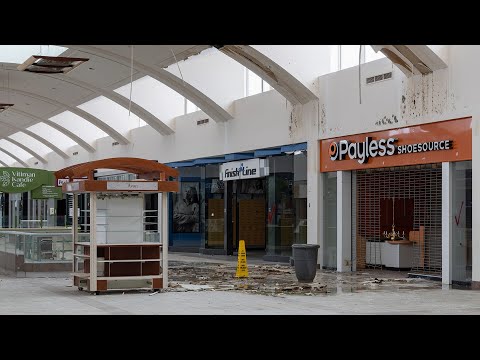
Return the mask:
<svg viewBox="0 0 480 360">
<path fill-rule="evenodd" d="M 472 281 L 472 162 L 453 163 L 452 280 Z"/>
</svg>

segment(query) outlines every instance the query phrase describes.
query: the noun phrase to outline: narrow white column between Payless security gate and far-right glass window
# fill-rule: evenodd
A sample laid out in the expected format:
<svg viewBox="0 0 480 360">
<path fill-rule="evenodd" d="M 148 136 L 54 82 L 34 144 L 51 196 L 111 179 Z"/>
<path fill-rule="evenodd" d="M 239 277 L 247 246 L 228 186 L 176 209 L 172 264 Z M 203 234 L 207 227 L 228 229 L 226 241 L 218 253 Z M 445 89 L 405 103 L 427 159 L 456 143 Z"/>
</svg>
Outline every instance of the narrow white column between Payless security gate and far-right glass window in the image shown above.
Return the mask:
<svg viewBox="0 0 480 360">
<path fill-rule="evenodd" d="M 442 284 L 452 283 L 453 164 L 442 163 Z"/>
</svg>

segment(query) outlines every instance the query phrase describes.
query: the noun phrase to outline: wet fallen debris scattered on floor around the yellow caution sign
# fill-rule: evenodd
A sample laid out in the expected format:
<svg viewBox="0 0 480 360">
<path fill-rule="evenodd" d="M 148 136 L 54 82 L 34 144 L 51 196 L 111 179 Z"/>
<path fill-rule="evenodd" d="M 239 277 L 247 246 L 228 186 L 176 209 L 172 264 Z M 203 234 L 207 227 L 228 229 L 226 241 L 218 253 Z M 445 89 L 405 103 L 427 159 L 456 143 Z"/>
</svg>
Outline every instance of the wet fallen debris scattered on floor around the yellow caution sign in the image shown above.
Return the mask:
<svg viewBox="0 0 480 360">
<path fill-rule="evenodd" d="M 241 291 L 270 296 L 315 296 L 340 290 L 357 292 L 377 291 L 387 287 L 416 289 L 439 286 L 438 282 L 407 278 L 406 272 L 381 269 L 351 273 L 318 270 L 312 283 L 298 282 L 295 269 L 289 264 L 249 265 L 248 278 L 236 278 L 235 272 L 235 263 L 176 261 L 169 267 L 169 287 L 161 292 Z"/>
</svg>

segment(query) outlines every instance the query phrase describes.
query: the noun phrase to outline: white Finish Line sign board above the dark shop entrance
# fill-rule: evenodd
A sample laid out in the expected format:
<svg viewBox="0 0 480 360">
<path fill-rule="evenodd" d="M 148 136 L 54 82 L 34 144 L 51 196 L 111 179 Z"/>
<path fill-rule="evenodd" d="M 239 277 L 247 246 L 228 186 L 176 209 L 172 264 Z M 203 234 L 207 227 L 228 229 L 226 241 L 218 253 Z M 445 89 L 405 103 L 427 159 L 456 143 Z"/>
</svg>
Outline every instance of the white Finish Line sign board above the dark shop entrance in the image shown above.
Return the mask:
<svg viewBox="0 0 480 360">
<path fill-rule="evenodd" d="M 264 177 L 269 174 L 267 159 L 232 161 L 220 165 L 220 180 L 240 180 Z"/>
</svg>

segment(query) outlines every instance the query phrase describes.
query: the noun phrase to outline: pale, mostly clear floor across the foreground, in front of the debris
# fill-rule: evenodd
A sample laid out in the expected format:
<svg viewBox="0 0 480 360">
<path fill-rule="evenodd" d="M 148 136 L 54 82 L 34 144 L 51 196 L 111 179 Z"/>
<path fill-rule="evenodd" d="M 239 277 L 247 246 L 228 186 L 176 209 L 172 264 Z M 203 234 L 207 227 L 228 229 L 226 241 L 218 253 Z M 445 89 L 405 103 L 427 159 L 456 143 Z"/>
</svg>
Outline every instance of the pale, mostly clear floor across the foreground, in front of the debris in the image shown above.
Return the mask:
<svg viewBox="0 0 480 360">
<path fill-rule="evenodd" d="M 58 276 L 58 274 L 57 274 Z M 330 294 L 266 296 L 241 291 L 92 295 L 67 277 L 0 276 L 0 314 L 480 314 L 480 291 L 441 286 L 342 288 Z"/>
</svg>

